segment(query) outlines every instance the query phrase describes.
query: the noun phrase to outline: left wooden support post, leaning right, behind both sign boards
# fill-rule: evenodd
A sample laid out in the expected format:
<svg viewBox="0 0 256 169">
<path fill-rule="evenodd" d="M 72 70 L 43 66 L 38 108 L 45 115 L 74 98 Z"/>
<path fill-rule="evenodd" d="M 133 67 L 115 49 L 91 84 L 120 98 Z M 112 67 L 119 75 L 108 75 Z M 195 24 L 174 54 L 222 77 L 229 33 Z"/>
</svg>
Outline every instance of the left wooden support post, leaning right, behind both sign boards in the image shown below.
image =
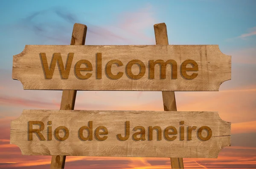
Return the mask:
<svg viewBox="0 0 256 169">
<path fill-rule="evenodd" d="M 84 45 L 87 26 L 75 23 L 72 32 L 70 45 Z M 63 90 L 60 110 L 74 110 L 76 101 L 76 90 Z M 53 155 L 51 169 L 64 169 L 66 156 Z"/>
</svg>

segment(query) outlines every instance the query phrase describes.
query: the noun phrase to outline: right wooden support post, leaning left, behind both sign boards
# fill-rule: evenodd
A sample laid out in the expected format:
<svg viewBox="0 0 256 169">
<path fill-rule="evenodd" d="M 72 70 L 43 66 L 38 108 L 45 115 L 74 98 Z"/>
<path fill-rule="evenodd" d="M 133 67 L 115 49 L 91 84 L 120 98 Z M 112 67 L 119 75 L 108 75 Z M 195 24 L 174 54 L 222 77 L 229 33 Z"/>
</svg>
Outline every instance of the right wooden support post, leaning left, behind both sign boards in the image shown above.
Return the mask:
<svg viewBox="0 0 256 169">
<path fill-rule="evenodd" d="M 169 45 L 165 23 L 154 25 L 156 45 Z M 162 91 L 164 111 L 177 111 L 174 91 Z M 172 169 L 184 169 L 182 158 L 171 158 Z"/>
</svg>

